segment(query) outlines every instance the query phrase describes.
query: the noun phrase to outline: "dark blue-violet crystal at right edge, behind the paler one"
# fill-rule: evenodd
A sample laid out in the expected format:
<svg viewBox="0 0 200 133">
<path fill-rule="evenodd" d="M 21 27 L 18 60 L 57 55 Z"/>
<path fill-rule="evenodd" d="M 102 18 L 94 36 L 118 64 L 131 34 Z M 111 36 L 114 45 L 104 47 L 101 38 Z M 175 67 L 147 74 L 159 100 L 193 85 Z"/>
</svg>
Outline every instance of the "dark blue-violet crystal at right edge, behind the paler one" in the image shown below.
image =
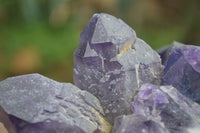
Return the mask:
<svg viewBox="0 0 200 133">
<path fill-rule="evenodd" d="M 165 64 L 164 85 L 200 103 L 200 47 L 174 42 Z"/>
</svg>

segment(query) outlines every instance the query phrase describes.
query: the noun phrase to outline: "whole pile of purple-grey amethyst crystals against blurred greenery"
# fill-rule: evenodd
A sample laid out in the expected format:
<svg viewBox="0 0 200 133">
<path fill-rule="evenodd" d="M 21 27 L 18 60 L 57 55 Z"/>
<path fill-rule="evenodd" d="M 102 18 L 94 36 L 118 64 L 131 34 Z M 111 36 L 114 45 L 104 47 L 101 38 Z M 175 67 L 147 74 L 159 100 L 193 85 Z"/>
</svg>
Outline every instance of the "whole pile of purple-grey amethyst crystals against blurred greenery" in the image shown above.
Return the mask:
<svg viewBox="0 0 200 133">
<path fill-rule="evenodd" d="M 73 71 L 76 86 L 40 74 L 1 81 L 0 133 L 200 133 L 198 46 L 156 52 L 121 19 L 95 14 Z"/>
</svg>

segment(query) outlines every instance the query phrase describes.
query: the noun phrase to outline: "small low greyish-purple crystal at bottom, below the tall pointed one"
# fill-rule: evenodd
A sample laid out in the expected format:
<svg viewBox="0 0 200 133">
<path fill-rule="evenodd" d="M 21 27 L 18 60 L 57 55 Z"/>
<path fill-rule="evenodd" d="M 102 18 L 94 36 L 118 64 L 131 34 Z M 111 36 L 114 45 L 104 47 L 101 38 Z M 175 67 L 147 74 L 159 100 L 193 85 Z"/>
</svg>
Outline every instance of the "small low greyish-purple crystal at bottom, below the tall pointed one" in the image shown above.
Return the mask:
<svg viewBox="0 0 200 133">
<path fill-rule="evenodd" d="M 159 123 L 142 115 L 122 115 L 115 119 L 112 133 L 169 133 Z"/>
</svg>

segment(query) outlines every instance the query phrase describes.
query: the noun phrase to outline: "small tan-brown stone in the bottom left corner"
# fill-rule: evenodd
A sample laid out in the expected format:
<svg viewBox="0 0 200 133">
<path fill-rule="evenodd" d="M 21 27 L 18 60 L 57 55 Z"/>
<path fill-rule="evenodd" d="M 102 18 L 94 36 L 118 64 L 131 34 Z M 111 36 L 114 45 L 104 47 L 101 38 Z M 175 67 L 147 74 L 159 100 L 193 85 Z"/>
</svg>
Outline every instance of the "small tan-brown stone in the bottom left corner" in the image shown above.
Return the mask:
<svg viewBox="0 0 200 133">
<path fill-rule="evenodd" d="M 6 112 L 0 106 L 0 133 L 16 133 Z"/>
</svg>

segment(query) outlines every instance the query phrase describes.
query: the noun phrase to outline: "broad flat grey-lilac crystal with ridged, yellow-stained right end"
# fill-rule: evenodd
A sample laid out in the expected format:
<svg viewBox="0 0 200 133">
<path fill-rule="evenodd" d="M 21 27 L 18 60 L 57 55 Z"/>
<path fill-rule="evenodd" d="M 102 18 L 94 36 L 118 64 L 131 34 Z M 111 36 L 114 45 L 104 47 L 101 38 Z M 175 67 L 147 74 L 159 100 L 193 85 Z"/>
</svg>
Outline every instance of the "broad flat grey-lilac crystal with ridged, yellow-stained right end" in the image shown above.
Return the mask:
<svg viewBox="0 0 200 133">
<path fill-rule="evenodd" d="M 70 83 L 59 83 L 39 74 L 0 82 L 0 105 L 11 115 L 19 133 L 110 130 L 96 97 Z"/>
</svg>

